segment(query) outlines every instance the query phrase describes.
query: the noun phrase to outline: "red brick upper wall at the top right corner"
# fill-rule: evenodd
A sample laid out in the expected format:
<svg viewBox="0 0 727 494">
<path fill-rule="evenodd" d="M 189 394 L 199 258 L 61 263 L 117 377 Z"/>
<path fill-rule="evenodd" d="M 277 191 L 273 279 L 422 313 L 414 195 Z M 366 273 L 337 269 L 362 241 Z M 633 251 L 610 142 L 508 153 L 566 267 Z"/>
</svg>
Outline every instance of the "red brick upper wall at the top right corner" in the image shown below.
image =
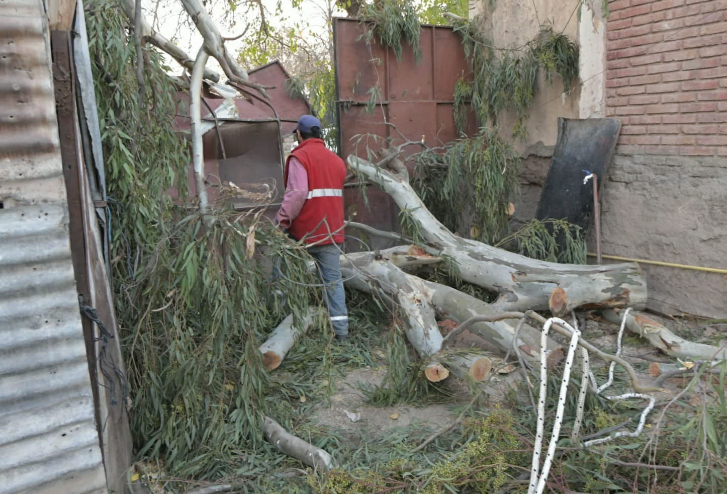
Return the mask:
<svg viewBox="0 0 727 494">
<path fill-rule="evenodd" d="M 616 0 L 606 116 L 617 152 L 727 156 L 727 0 Z"/>
</svg>

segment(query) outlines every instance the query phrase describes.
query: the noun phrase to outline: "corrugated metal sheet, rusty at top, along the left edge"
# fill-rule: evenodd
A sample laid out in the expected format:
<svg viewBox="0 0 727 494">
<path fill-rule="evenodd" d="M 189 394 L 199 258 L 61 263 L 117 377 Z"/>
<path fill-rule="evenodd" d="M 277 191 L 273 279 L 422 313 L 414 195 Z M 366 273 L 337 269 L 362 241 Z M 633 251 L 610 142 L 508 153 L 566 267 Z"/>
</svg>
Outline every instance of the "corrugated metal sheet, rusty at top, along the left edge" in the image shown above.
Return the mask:
<svg viewBox="0 0 727 494">
<path fill-rule="evenodd" d="M 0 2 L 0 492 L 104 493 L 41 2 Z"/>
</svg>

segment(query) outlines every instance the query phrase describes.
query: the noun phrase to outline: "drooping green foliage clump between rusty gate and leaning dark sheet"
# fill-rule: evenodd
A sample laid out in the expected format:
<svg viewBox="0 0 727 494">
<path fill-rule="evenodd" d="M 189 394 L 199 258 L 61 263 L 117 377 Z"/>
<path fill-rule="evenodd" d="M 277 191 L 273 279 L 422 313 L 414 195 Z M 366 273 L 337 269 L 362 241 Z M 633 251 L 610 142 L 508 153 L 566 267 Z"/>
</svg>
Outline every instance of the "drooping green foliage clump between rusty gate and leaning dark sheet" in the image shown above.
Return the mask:
<svg viewBox="0 0 727 494">
<path fill-rule="evenodd" d="M 518 190 L 520 162 L 497 130 L 483 128 L 473 138 L 457 140 L 444 154 L 425 151 L 417 163 L 414 187 L 447 228 L 472 226 L 467 233 L 487 243 L 507 234 L 507 206 Z"/>
</svg>

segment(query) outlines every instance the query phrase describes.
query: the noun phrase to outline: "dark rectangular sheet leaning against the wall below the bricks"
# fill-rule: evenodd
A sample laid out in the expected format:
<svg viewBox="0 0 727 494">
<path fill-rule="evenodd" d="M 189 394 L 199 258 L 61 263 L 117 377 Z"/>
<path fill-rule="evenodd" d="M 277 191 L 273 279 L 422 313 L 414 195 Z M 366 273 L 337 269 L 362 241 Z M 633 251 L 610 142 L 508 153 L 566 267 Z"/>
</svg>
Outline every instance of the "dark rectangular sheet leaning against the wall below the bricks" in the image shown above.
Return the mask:
<svg viewBox="0 0 727 494">
<path fill-rule="evenodd" d="M 593 220 L 593 183 L 584 185 L 588 170 L 598 175 L 599 185 L 608 172 L 619 138 L 617 119 L 558 119 L 555 144 L 545 186 L 535 217 L 566 219 L 582 228 Z"/>
</svg>

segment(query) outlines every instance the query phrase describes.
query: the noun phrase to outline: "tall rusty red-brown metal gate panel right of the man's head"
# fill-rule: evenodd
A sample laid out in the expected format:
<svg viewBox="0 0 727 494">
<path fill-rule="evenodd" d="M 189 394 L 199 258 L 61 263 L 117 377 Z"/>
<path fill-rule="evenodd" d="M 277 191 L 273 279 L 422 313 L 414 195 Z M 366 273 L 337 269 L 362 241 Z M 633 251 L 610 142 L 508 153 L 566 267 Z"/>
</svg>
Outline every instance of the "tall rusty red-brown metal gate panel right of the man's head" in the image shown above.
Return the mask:
<svg viewBox="0 0 727 494">
<path fill-rule="evenodd" d="M 462 41 L 451 28 L 422 26 L 420 59 L 410 47 L 403 47 L 401 60 L 393 50 L 374 41 L 371 47 L 361 39 L 364 24 L 358 20 L 334 20 L 334 58 L 336 68 L 337 114 L 342 157 L 356 154 L 366 158 L 371 151 L 386 147 L 385 141 L 401 142 L 422 137 L 429 146 L 442 146 L 457 139 L 454 125 L 454 85 L 469 76 Z M 373 89 L 372 89 L 373 88 Z M 376 105 L 371 108 L 372 97 Z M 395 128 L 393 127 L 395 126 Z M 476 132 L 470 111 L 467 132 Z M 373 136 L 377 136 L 374 138 Z M 410 146 L 406 152 L 418 151 Z M 346 215 L 356 221 L 388 231 L 401 231 L 398 207 L 387 194 L 369 187 L 368 207 L 359 191 L 344 195 Z M 370 239 L 371 247 L 382 248 L 390 242 Z M 360 249 L 349 242 L 351 249 Z"/>
</svg>

